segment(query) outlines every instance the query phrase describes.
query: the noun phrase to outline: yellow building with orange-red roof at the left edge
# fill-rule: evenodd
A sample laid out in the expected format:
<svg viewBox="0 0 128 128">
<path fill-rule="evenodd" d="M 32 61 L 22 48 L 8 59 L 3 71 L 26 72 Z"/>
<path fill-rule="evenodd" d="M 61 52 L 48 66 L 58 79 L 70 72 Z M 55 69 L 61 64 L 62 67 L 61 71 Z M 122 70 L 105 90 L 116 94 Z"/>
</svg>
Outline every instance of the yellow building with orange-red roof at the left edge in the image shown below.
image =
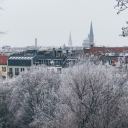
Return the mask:
<svg viewBox="0 0 128 128">
<path fill-rule="evenodd" d="M 7 78 L 7 58 L 8 56 L 0 56 L 0 76 Z"/>
</svg>

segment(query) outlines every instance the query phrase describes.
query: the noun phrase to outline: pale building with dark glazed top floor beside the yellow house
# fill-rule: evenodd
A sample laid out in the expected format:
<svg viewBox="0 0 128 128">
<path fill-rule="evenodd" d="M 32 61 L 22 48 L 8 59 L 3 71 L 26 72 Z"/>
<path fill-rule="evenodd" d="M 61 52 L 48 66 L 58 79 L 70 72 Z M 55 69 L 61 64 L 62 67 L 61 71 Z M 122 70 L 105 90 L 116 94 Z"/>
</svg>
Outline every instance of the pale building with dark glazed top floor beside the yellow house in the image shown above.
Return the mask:
<svg viewBox="0 0 128 128">
<path fill-rule="evenodd" d="M 29 50 L 27 52 L 13 54 L 7 58 L 8 77 L 16 77 L 20 72 L 30 70 L 37 59 L 37 50 Z"/>
</svg>

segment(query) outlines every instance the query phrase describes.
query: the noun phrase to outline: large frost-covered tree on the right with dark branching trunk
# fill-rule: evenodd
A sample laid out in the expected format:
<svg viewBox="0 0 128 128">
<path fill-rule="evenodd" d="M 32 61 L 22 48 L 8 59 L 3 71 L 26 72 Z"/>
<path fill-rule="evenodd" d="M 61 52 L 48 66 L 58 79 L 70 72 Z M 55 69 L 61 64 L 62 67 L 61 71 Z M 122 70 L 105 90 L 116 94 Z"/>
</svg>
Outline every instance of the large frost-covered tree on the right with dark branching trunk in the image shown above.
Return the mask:
<svg viewBox="0 0 128 128">
<path fill-rule="evenodd" d="M 123 117 L 120 108 L 126 81 L 127 77 L 113 68 L 90 62 L 67 69 L 61 87 L 62 103 L 68 108 L 65 119 L 77 128 L 118 127 Z"/>
</svg>

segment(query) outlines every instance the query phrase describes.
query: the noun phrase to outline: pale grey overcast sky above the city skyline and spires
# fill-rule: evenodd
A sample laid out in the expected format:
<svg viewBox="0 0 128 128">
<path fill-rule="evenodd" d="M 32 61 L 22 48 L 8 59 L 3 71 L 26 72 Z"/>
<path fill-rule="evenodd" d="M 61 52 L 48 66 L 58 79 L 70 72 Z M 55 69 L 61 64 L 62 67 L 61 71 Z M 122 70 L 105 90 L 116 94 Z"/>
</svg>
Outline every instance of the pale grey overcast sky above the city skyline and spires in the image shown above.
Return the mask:
<svg viewBox="0 0 128 128">
<path fill-rule="evenodd" d="M 68 45 L 71 30 L 74 46 L 82 46 L 92 21 L 96 45 L 128 46 L 120 37 L 128 9 L 117 15 L 116 0 L 4 0 L 0 11 L 0 47 Z"/>
</svg>

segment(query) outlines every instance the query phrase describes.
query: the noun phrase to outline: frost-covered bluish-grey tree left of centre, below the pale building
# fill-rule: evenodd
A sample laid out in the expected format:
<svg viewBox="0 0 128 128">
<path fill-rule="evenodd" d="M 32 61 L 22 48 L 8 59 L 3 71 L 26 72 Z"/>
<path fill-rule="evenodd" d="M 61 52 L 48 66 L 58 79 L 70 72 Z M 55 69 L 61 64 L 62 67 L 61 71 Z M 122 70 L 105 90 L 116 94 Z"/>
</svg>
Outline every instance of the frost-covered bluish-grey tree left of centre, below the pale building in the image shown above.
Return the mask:
<svg viewBox="0 0 128 128">
<path fill-rule="evenodd" d="M 8 84 L 12 86 L 7 115 L 10 128 L 54 127 L 59 116 L 58 74 L 34 67 Z"/>
</svg>

